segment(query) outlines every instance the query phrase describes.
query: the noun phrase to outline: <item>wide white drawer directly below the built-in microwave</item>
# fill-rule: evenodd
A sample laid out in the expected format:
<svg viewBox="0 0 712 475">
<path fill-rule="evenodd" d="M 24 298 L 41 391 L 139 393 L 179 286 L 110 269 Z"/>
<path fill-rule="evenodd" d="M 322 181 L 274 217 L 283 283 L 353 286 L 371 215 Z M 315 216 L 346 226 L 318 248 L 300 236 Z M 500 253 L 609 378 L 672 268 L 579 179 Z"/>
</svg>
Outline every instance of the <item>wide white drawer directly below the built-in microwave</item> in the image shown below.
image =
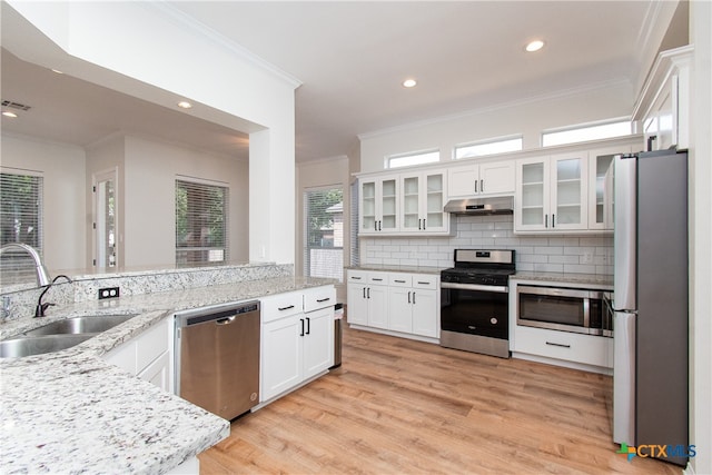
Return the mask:
<svg viewBox="0 0 712 475">
<path fill-rule="evenodd" d="M 611 368 L 613 338 L 516 326 L 515 352 Z"/>
</svg>

